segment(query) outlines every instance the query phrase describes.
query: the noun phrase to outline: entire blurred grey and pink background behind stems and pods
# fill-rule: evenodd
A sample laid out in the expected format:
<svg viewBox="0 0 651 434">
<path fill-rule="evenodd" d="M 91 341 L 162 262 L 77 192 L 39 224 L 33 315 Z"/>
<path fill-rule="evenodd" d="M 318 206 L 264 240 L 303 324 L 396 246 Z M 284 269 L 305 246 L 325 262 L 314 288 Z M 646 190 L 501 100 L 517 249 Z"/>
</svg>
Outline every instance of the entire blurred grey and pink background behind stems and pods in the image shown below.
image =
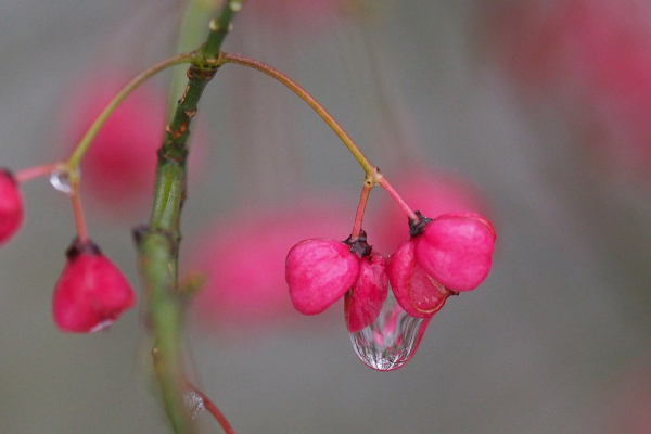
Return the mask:
<svg viewBox="0 0 651 434">
<path fill-rule="evenodd" d="M 184 8 L 1 0 L 1 166 L 64 158 L 103 98 L 176 52 Z M 188 363 L 235 432 L 651 432 L 647 2 L 250 0 L 225 50 L 301 82 L 416 208 L 482 212 L 498 237 L 488 279 L 413 359 L 367 368 L 343 303 L 303 317 L 282 281 L 295 242 L 348 235 L 362 171 L 294 94 L 224 66 L 194 124 L 181 273 L 208 278 Z M 91 237 L 135 285 L 151 184 L 128 165 L 154 163 L 129 158 L 157 146 L 169 80 L 125 102 L 98 138 L 113 152 L 82 168 Z M 23 193 L 0 250 L 0 432 L 168 432 L 138 309 L 90 335 L 53 326 L 72 209 L 46 179 Z M 374 191 L 366 228 L 384 254 L 407 237 L 395 214 Z"/>
</svg>

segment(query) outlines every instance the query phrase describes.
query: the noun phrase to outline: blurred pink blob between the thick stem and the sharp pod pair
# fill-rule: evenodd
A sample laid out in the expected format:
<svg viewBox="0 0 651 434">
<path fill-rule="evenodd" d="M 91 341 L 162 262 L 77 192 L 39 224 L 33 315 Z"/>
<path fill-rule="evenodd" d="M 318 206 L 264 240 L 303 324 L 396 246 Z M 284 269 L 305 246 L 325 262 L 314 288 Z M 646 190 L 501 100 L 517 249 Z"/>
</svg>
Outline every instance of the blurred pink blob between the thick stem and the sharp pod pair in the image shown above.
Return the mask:
<svg viewBox="0 0 651 434">
<path fill-rule="evenodd" d="M 187 267 L 205 272 L 194 309 L 208 328 L 286 321 L 295 314 L 285 282 L 285 257 L 308 238 L 345 240 L 353 228 L 349 207 L 336 201 L 284 208 L 240 206 L 221 217 L 195 243 Z"/>
</svg>

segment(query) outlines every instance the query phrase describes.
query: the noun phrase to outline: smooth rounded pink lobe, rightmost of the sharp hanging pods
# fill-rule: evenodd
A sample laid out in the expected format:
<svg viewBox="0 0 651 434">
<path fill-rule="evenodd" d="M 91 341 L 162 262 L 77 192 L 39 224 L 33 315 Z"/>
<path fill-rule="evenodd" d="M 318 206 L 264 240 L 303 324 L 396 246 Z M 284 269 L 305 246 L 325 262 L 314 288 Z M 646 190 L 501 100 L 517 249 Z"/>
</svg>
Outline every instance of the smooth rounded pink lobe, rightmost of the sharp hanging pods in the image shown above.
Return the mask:
<svg viewBox="0 0 651 434">
<path fill-rule="evenodd" d="M 478 214 L 444 214 L 413 241 L 417 263 L 450 291 L 474 290 L 490 271 L 495 229 Z"/>
</svg>

